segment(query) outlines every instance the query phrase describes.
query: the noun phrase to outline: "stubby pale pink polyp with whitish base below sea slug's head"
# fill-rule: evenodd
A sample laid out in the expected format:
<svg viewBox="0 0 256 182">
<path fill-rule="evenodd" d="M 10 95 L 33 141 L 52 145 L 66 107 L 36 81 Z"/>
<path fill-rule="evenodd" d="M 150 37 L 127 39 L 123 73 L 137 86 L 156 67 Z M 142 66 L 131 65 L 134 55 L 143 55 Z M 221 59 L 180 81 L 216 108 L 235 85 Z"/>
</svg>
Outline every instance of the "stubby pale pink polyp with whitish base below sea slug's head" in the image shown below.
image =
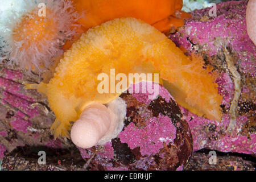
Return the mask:
<svg viewBox="0 0 256 182">
<path fill-rule="evenodd" d="M 100 103 L 89 105 L 72 126 L 72 142 L 81 148 L 109 142 L 122 131 L 125 115 L 126 104 L 121 98 L 108 107 Z"/>
</svg>

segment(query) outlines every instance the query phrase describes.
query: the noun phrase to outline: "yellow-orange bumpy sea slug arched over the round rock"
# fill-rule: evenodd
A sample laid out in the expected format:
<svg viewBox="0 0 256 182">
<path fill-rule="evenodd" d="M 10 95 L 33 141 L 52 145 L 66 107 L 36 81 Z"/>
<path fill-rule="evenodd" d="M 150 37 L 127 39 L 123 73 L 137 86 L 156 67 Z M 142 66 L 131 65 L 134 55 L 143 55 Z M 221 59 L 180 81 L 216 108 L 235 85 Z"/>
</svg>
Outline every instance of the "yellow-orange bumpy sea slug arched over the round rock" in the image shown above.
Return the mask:
<svg viewBox="0 0 256 182">
<path fill-rule="evenodd" d="M 69 137 L 70 122 L 75 122 L 91 102 L 105 104 L 121 94 L 97 92 L 101 82 L 97 76 L 106 73 L 110 78 L 113 68 L 116 75 L 159 73 L 178 104 L 209 119 L 221 119 L 221 96 L 213 76 L 203 69 L 202 58 L 192 56 L 192 60 L 189 59 L 150 24 L 134 18 L 121 18 L 82 34 L 64 53 L 48 84 L 41 82 L 27 86 L 38 88 L 48 96 L 56 115 L 51 127 L 55 137 Z"/>
</svg>

